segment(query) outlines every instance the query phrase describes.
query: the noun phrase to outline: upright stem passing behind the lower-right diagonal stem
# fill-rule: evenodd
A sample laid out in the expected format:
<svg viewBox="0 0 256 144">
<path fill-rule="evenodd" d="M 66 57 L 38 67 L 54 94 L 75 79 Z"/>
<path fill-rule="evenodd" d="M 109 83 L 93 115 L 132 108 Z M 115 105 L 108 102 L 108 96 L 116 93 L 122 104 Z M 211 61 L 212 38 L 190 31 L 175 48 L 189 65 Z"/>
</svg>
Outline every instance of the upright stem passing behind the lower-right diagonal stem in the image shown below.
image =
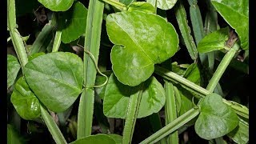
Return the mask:
<svg viewBox="0 0 256 144">
<path fill-rule="evenodd" d="M 171 82 L 165 82 L 165 91 L 166 91 L 166 125 L 170 122 L 173 122 L 177 118 L 176 110 L 176 100 L 174 95 L 174 85 Z M 170 134 L 167 137 L 169 143 L 178 143 L 178 130 L 175 130 L 174 133 Z"/>
</svg>

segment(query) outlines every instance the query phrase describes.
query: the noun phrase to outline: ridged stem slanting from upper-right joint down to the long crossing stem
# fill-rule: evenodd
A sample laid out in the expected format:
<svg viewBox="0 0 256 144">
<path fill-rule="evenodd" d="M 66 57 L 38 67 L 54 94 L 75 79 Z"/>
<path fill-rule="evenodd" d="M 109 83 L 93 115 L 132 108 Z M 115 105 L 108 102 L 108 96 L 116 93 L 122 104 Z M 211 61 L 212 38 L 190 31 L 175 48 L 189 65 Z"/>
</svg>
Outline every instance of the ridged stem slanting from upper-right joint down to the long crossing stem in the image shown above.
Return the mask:
<svg viewBox="0 0 256 144">
<path fill-rule="evenodd" d="M 230 49 L 222 59 L 222 62 L 218 65 L 217 70 L 214 72 L 213 77 L 210 79 L 206 90 L 213 92 L 215 87 L 218 84 L 218 81 L 222 77 L 222 74 L 225 72 L 226 67 L 229 66 L 231 60 L 234 58 L 234 55 L 238 52 L 239 46 L 235 44 L 232 49 Z"/>
</svg>

